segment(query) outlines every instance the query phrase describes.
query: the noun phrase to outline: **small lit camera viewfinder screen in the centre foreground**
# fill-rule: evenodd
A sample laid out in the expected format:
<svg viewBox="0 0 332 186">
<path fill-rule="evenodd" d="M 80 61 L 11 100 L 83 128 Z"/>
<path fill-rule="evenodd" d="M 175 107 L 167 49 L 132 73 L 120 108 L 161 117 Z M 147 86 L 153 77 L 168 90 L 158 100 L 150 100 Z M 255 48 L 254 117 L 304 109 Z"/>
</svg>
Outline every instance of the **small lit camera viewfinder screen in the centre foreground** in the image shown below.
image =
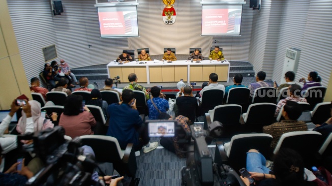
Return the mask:
<svg viewBox="0 0 332 186">
<path fill-rule="evenodd" d="M 149 122 L 149 137 L 174 137 L 174 122 Z"/>
</svg>

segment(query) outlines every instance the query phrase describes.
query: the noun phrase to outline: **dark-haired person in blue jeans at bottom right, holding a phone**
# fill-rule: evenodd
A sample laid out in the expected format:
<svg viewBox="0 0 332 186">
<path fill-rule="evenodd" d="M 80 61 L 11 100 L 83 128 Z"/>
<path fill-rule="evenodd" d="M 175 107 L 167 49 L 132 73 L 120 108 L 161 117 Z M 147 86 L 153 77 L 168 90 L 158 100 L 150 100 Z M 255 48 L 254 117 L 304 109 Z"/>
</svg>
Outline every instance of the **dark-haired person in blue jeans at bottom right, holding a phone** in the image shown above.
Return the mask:
<svg viewBox="0 0 332 186">
<path fill-rule="evenodd" d="M 247 152 L 247 170 L 255 179 L 255 185 L 311 185 L 304 178 L 305 166 L 300 154 L 290 148 L 281 148 L 274 157 L 273 169 L 266 167 L 265 157 L 256 149 Z M 240 176 L 247 186 L 249 179 Z M 316 185 L 316 184 L 313 184 Z"/>
</svg>

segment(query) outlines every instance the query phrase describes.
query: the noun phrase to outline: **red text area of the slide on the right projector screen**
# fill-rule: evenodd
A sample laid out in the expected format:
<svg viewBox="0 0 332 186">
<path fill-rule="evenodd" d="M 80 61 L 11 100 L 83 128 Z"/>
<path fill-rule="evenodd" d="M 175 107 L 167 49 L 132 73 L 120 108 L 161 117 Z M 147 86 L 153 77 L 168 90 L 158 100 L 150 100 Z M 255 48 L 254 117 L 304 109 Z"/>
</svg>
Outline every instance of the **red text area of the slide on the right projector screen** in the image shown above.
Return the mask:
<svg viewBox="0 0 332 186">
<path fill-rule="evenodd" d="M 227 33 L 228 9 L 203 9 L 202 33 L 205 35 Z"/>
</svg>

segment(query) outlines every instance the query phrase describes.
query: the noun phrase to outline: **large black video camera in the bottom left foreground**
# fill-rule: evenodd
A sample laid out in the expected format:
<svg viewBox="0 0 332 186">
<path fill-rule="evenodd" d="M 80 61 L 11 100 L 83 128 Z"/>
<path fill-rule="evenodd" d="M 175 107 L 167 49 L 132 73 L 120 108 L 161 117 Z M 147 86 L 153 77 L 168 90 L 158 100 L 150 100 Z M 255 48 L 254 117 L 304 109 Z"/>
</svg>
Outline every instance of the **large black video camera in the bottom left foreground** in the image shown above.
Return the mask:
<svg viewBox="0 0 332 186">
<path fill-rule="evenodd" d="M 97 164 L 88 155 L 83 156 L 79 138 L 68 142 L 64 135 L 64 128 L 56 126 L 17 136 L 18 148 L 36 153 L 45 165 L 26 185 L 103 185 L 92 180 L 91 175 Z M 22 145 L 21 140 L 33 140 L 34 143 Z"/>
</svg>

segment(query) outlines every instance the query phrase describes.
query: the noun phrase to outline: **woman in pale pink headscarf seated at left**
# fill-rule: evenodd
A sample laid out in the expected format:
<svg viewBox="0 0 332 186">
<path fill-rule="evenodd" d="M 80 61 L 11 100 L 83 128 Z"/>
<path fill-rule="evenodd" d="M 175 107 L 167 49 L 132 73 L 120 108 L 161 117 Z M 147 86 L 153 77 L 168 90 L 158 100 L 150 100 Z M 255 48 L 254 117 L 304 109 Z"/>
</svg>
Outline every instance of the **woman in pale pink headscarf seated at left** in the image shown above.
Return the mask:
<svg viewBox="0 0 332 186">
<path fill-rule="evenodd" d="M 44 117 L 41 116 L 41 106 L 38 101 L 31 100 L 27 102 L 30 107 L 31 107 L 31 114 L 32 114 L 32 119 L 34 122 L 34 131 L 42 131 L 47 128 L 53 128 L 54 124 L 52 123 L 51 120 L 45 119 Z M 54 112 L 52 114 L 52 120 L 56 122 L 57 120 L 57 114 Z M 16 131 L 20 134 L 25 134 L 25 129 L 27 125 L 27 119 L 28 115 L 22 110 L 22 116 L 18 119 L 17 125 L 16 125 Z"/>
</svg>

